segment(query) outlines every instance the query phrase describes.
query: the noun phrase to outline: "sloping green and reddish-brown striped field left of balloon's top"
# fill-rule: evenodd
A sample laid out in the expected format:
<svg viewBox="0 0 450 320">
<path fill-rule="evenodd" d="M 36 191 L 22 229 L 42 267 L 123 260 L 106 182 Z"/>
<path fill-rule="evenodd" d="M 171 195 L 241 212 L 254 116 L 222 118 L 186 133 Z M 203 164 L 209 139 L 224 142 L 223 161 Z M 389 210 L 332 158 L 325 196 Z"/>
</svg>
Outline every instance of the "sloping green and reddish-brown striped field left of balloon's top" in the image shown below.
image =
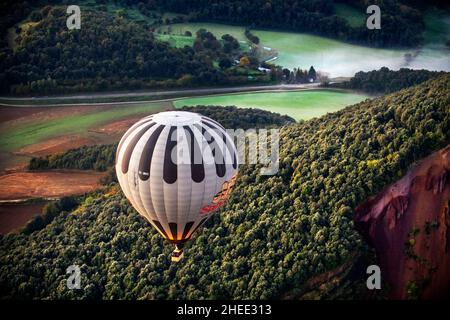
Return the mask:
<svg viewBox="0 0 450 320">
<path fill-rule="evenodd" d="M 137 119 L 171 109 L 170 103 L 0 109 L 0 171 L 89 144 L 116 142 Z"/>
</svg>

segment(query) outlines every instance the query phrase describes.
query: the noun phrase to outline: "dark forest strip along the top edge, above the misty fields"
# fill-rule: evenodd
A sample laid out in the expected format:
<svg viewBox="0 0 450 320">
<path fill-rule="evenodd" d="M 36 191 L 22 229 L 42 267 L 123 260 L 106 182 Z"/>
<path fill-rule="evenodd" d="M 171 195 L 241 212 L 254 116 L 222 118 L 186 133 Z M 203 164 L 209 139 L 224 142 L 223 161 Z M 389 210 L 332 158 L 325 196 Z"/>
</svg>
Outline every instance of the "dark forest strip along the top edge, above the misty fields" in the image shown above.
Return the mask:
<svg viewBox="0 0 450 320">
<path fill-rule="evenodd" d="M 138 3 L 127 0 L 126 3 Z M 160 9 L 189 15 L 190 21 L 215 21 L 259 28 L 307 32 L 343 41 L 377 47 L 414 46 L 423 40 L 422 13 L 411 1 L 375 0 L 380 5 L 383 27 L 373 32 L 363 24 L 351 27 L 336 15 L 335 3 L 348 2 L 364 13 L 367 1 L 329 0 L 153 0 L 144 2 L 148 9 Z M 408 4 L 408 5 L 406 5 Z"/>
</svg>

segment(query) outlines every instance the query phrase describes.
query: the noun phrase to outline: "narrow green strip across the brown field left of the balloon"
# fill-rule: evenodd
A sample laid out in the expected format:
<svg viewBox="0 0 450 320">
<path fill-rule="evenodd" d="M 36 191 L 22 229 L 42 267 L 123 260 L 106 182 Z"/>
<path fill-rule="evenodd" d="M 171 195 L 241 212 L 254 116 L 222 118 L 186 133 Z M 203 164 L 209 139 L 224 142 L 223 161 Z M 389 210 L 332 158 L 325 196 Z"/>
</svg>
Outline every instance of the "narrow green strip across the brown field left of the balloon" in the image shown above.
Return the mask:
<svg viewBox="0 0 450 320">
<path fill-rule="evenodd" d="M 146 103 L 114 107 L 105 111 L 67 116 L 49 121 L 0 126 L 0 151 L 12 152 L 26 145 L 63 135 L 89 134 L 96 126 L 127 118 L 132 115 L 150 114 L 167 108 L 164 103 Z M 51 109 L 49 109 L 51 112 Z"/>
</svg>

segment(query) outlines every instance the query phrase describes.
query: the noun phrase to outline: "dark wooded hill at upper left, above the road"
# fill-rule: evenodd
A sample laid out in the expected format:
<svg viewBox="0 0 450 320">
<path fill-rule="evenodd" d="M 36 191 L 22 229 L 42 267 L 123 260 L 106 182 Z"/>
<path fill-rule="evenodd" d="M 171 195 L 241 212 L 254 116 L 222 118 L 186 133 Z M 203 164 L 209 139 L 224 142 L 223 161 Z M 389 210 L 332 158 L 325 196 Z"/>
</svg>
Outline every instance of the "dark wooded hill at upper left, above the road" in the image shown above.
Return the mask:
<svg viewBox="0 0 450 320">
<path fill-rule="evenodd" d="M 153 28 L 120 14 L 83 11 L 83 28 L 68 30 L 65 7 L 33 11 L 32 27 L 16 30 L 14 44 L 0 48 L 0 90 L 16 94 L 239 85 L 270 82 L 281 69 L 259 72 L 258 60 L 240 51 L 230 35 L 207 30 L 192 35 L 194 46 L 170 47 Z M 246 57 L 245 65 L 234 61 Z"/>
</svg>

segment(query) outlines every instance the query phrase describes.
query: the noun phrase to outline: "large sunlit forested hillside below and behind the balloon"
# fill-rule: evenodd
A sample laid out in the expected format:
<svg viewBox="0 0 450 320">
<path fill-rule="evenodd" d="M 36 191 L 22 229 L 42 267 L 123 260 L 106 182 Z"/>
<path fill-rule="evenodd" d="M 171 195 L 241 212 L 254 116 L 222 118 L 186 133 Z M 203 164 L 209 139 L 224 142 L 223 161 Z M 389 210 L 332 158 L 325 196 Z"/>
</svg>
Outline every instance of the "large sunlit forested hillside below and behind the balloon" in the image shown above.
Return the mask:
<svg viewBox="0 0 450 320">
<path fill-rule="evenodd" d="M 283 126 L 279 173 L 261 176 L 258 165 L 242 165 L 229 203 L 178 264 L 170 263 L 172 247 L 111 184 L 40 229 L 0 239 L 0 296 L 281 297 L 364 251 L 353 209 L 449 143 L 449 102 L 444 75 Z M 73 264 L 81 267 L 81 290 L 66 288 Z"/>
</svg>

